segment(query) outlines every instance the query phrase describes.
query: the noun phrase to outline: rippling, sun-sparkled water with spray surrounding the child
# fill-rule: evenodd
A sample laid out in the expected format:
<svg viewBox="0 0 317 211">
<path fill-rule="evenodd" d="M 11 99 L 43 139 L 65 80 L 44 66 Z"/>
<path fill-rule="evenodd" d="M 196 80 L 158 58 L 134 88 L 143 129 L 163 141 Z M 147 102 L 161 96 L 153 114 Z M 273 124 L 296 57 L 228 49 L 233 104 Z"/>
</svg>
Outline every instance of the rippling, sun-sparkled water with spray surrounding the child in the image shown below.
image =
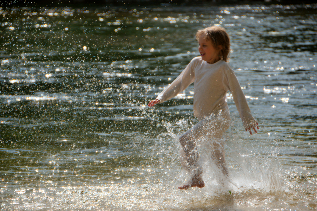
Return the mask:
<svg viewBox="0 0 317 211">
<path fill-rule="evenodd" d="M 316 5 L 2 8 L 1 210 L 316 210 L 316 20 Z M 228 94 L 232 195 L 212 164 L 205 188 L 177 189 L 193 86 L 146 107 L 214 24 L 261 127 L 244 132 Z"/>
</svg>

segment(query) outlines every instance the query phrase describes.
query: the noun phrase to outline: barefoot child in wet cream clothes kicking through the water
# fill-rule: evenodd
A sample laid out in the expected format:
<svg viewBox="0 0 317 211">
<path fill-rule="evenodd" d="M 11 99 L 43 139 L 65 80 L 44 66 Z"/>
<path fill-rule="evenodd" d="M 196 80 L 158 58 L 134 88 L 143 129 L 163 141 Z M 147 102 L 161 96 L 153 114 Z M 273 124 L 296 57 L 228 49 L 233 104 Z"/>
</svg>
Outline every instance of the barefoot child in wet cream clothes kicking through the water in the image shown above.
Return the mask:
<svg viewBox="0 0 317 211">
<path fill-rule="evenodd" d="M 230 38 L 222 27 L 208 27 L 196 33 L 201 57 L 195 57 L 182 73 L 159 96 L 150 101 L 149 107 L 167 101 L 194 82 L 194 116 L 199 122 L 180 135 L 181 165 L 189 172 L 190 179 L 179 189 L 203 188 L 202 164 L 197 152 L 201 139 L 212 146 L 211 157 L 227 177 L 222 136 L 230 126 L 230 113 L 226 93 L 230 91 L 245 130 L 257 133 L 258 122 L 251 115 L 246 98 L 232 68 L 226 63 Z"/>
</svg>

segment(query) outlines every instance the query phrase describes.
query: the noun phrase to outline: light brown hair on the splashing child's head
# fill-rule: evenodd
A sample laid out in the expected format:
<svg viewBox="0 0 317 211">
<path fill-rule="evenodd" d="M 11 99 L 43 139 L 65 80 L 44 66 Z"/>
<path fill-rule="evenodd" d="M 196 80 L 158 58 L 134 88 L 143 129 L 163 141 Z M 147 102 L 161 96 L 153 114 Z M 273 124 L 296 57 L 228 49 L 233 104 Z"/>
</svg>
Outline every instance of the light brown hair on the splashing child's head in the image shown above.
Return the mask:
<svg viewBox="0 0 317 211">
<path fill-rule="evenodd" d="M 226 30 L 219 26 L 211 26 L 198 30 L 196 33 L 196 40 L 198 40 L 202 34 L 205 34 L 206 40 L 210 40 L 213 43 L 213 47 L 216 49 L 221 45 L 222 49 L 219 52 L 219 57 L 225 62 L 229 61 L 230 37 Z"/>
</svg>

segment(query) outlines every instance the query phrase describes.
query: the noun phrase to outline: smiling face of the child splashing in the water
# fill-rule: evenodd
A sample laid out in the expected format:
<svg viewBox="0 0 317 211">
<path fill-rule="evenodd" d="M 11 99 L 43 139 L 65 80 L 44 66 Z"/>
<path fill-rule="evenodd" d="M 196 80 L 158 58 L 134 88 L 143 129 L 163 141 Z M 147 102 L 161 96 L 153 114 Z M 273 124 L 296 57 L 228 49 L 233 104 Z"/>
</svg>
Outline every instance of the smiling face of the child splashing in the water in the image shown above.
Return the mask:
<svg viewBox="0 0 317 211">
<path fill-rule="evenodd" d="M 219 52 L 221 50 L 221 46 L 218 46 L 218 49 L 213 47 L 213 43 L 211 40 L 206 40 L 206 34 L 202 34 L 198 39 L 198 50 L 200 55 L 202 56 L 202 60 L 213 64 L 220 60 Z"/>
</svg>

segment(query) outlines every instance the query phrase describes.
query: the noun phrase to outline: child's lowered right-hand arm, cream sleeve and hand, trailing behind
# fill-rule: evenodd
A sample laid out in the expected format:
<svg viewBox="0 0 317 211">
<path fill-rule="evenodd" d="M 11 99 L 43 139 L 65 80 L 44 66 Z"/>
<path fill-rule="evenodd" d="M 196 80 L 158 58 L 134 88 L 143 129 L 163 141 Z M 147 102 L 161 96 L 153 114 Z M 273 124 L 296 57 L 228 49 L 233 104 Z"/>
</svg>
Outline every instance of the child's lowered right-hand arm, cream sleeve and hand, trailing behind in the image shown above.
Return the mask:
<svg viewBox="0 0 317 211">
<path fill-rule="evenodd" d="M 259 129 L 258 122 L 251 114 L 246 97 L 232 69 L 227 71 L 225 80 L 224 82 L 228 84 L 227 88 L 232 93 L 234 103 L 238 109 L 245 130 L 249 131 L 250 134 L 252 134 L 251 130 L 257 133 L 256 128 Z"/>
</svg>

